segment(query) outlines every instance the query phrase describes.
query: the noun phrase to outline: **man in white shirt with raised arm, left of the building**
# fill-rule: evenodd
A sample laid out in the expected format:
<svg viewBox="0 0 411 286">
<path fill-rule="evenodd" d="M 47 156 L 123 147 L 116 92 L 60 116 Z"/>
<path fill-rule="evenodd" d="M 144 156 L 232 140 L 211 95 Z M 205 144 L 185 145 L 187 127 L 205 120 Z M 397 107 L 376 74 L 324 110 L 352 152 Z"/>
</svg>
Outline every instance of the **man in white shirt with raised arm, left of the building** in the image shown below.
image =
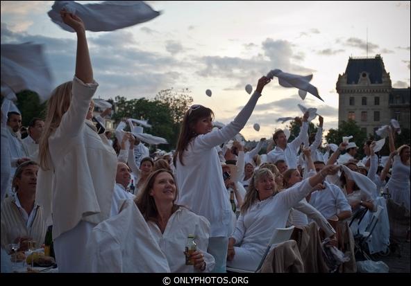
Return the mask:
<svg viewBox="0 0 411 286">
<path fill-rule="evenodd" d="M 297 152 L 308 137 L 308 112 L 303 116 L 303 126 L 300 129 L 300 134 L 291 143 L 287 143 L 287 136 L 283 130 L 279 129 L 273 134 L 273 140 L 276 148 L 267 154 L 267 162 L 276 163 L 282 159 L 287 163 L 288 168 L 297 168 Z"/>
</svg>

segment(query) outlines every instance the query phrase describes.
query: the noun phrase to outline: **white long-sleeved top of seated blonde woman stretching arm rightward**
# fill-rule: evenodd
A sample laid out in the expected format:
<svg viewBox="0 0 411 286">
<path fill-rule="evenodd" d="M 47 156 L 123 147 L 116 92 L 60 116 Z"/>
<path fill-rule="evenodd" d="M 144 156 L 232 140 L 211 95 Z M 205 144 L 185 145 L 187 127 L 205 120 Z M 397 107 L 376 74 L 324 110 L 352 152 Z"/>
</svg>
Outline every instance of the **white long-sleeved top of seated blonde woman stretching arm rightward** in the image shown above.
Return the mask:
<svg viewBox="0 0 411 286">
<path fill-rule="evenodd" d="M 240 213 L 237 219 L 237 226 L 231 235 L 235 239 L 235 245 L 256 251 L 262 256 L 274 229 L 285 227 L 290 208 L 311 190 L 309 179 L 305 179 L 261 202 L 255 202 L 246 213 Z"/>
</svg>

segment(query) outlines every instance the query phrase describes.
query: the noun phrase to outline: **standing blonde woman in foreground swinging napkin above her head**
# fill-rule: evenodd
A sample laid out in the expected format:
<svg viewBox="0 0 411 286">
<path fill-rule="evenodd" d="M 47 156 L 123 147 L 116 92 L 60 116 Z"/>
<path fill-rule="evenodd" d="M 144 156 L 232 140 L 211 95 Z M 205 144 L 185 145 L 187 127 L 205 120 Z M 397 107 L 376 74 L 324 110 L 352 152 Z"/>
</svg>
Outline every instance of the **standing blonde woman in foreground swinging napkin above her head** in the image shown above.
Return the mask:
<svg viewBox="0 0 411 286">
<path fill-rule="evenodd" d="M 85 245 L 94 226 L 110 216 L 117 157 L 104 134 L 90 120 L 97 89 L 83 21 L 69 12 L 62 20 L 76 31 L 74 80 L 60 84 L 47 104 L 40 141 L 37 202 L 45 217 L 53 211 L 54 251 L 60 272 L 85 269 Z M 41 177 L 41 178 L 40 178 Z"/>
</svg>

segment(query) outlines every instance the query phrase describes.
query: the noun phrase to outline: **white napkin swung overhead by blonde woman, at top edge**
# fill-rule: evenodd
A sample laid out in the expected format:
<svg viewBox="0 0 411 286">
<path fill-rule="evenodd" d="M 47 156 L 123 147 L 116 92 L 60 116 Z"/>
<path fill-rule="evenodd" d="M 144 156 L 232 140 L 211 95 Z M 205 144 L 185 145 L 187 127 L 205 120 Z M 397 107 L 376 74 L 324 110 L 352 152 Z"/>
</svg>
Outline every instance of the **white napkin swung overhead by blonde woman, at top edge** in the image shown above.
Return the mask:
<svg viewBox="0 0 411 286">
<path fill-rule="evenodd" d="M 160 12 L 151 9 L 144 1 L 104 1 L 85 4 L 74 1 L 55 1 L 47 13 L 51 21 L 64 30 L 74 32 L 61 19 L 60 10 L 65 9 L 80 17 L 85 30 L 93 32 L 111 31 L 144 23 L 156 18 Z"/>
</svg>

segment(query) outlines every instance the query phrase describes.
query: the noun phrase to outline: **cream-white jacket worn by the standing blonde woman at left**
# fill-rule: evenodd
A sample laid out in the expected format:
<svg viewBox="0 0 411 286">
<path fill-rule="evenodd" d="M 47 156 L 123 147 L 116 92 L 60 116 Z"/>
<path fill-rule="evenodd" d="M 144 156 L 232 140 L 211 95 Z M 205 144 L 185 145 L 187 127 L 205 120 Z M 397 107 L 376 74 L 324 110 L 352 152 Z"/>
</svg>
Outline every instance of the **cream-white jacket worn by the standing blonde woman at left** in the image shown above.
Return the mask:
<svg viewBox="0 0 411 286">
<path fill-rule="evenodd" d="M 81 220 L 98 224 L 110 217 L 117 156 L 106 136 L 85 120 L 97 86 L 74 77 L 70 107 L 49 137 L 53 188 L 37 184 L 36 199 L 42 205 L 52 198 L 53 239 Z"/>
</svg>

